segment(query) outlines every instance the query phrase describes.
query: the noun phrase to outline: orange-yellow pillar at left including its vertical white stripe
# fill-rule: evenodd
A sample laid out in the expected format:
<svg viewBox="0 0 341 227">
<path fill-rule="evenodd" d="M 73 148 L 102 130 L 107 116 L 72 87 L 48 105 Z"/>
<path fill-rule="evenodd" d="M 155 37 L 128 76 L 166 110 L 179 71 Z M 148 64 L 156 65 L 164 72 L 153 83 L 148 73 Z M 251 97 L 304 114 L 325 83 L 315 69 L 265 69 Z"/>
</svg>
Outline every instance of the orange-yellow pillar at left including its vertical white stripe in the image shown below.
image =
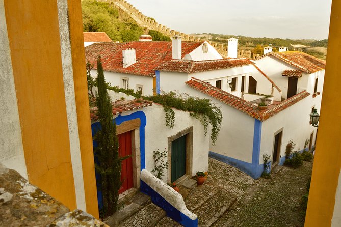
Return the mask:
<svg viewBox="0 0 341 227">
<path fill-rule="evenodd" d="M 98 218 L 81 1 L 3 1 L 29 181 Z"/>
</svg>

